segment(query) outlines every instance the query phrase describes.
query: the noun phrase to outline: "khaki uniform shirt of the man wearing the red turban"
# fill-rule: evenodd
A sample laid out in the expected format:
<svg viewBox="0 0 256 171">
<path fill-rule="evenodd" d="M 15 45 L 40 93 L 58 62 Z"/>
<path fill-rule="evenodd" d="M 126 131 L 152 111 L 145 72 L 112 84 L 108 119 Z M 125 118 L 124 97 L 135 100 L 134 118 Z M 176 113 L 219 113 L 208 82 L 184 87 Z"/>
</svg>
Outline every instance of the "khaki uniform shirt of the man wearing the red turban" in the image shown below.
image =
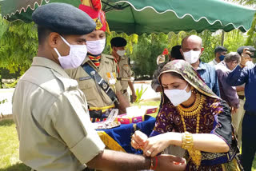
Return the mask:
<svg viewBox="0 0 256 171">
<path fill-rule="evenodd" d="M 106 54 L 102 54 L 101 62 L 98 68 L 94 66 L 94 63 L 90 61 L 90 58 L 87 56 L 85 61 L 82 63 L 89 63 L 90 66 L 94 68 L 94 70 L 98 71 L 98 74 L 109 83 L 109 78 L 107 74 L 116 74 L 116 63 L 114 62 L 114 57 Z M 66 73 L 78 81 L 79 89 L 82 90 L 86 95 L 86 100 L 90 107 L 106 107 L 110 105 L 114 105 L 113 101 L 108 97 L 108 95 L 102 90 L 101 87 L 98 86 L 94 82 L 93 78 L 90 78 L 90 75 L 83 70 L 82 66 L 79 66 L 77 69 L 66 70 Z M 110 83 L 109 83 L 110 85 Z M 116 91 L 121 90 L 120 82 L 116 80 L 114 85 L 110 85 L 110 87 Z"/>
</svg>

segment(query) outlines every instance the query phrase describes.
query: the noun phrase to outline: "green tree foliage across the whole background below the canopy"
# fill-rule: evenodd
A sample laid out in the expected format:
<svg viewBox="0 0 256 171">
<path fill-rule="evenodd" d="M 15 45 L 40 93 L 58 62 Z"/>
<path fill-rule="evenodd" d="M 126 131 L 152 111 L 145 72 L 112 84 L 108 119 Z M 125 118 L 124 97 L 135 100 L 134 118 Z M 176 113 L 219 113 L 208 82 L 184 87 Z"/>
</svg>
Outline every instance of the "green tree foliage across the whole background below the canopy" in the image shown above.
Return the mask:
<svg viewBox="0 0 256 171">
<path fill-rule="evenodd" d="M 224 33 L 224 46 L 229 51 L 236 51 L 239 46 L 254 45 L 256 43 L 256 17 L 253 26 L 247 33 L 242 34 L 239 30 Z M 107 34 L 104 54 L 110 54 L 110 40 L 120 36 L 126 38 L 126 54 L 135 62 L 135 76 L 151 78 L 157 68 L 156 58 L 162 54 L 164 48 L 171 50 L 173 46 L 181 45 L 182 38 L 187 35 L 197 34 L 195 31 L 178 34 L 118 34 L 112 31 Z M 211 33 L 208 30 L 197 34 L 202 38 L 204 52 L 202 62 L 210 62 L 214 58 L 214 48 L 222 45 L 222 31 Z M 0 69 L 10 70 L 10 73 L 20 72 L 23 74 L 31 65 L 32 58 L 37 54 L 38 36 L 34 23 L 26 24 L 21 21 L 6 22 L 0 18 Z M 0 79 L 1 80 L 1 79 Z"/>
</svg>

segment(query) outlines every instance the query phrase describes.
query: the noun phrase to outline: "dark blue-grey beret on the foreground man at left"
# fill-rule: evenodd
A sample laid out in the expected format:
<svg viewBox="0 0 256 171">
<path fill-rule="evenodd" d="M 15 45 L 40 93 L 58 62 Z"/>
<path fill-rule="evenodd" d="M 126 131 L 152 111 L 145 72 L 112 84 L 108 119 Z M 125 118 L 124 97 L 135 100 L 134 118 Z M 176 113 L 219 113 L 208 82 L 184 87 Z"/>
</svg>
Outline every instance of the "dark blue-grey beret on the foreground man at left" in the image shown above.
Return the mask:
<svg viewBox="0 0 256 171">
<path fill-rule="evenodd" d="M 32 14 L 38 26 L 66 35 L 90 34 L 96 24 L 82 10 L 66 3 L 49 3 L 39 6 Z"/>
</svg>

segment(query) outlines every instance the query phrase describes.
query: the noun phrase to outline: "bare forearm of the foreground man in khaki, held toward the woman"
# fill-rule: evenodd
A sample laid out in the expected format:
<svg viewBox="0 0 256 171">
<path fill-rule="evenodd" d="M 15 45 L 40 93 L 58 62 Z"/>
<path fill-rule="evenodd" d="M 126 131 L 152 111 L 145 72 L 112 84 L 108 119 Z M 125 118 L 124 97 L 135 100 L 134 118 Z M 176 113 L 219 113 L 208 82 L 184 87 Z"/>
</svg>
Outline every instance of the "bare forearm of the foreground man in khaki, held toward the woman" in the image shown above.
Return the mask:
<svg viewBox="0 0 256 171">
<path fill-rule="evenodd" d="M 89 168 L 125 171 L 150 169 L 151 161 L 148 157 L 105 149 L 98 156 L 86 163 Z"/>
</svg>

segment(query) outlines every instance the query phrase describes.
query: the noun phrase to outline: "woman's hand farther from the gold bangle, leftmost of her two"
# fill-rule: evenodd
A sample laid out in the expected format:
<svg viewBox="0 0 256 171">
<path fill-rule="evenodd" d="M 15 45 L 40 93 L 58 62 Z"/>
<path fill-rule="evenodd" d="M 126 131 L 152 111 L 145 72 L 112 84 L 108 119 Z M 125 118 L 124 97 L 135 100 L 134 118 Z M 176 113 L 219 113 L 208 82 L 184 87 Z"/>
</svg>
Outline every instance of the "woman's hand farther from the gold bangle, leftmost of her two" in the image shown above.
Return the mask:
<svg viewBox="0 0 256 171">
<path fill-rule="evenodd" d="M 144 146 L 147 138 L 148 137 L 145 133 L 137 130 L 131 137 L 131 146 L 134 147 L 134 149 L 141 149 Z"/>
</svg>

